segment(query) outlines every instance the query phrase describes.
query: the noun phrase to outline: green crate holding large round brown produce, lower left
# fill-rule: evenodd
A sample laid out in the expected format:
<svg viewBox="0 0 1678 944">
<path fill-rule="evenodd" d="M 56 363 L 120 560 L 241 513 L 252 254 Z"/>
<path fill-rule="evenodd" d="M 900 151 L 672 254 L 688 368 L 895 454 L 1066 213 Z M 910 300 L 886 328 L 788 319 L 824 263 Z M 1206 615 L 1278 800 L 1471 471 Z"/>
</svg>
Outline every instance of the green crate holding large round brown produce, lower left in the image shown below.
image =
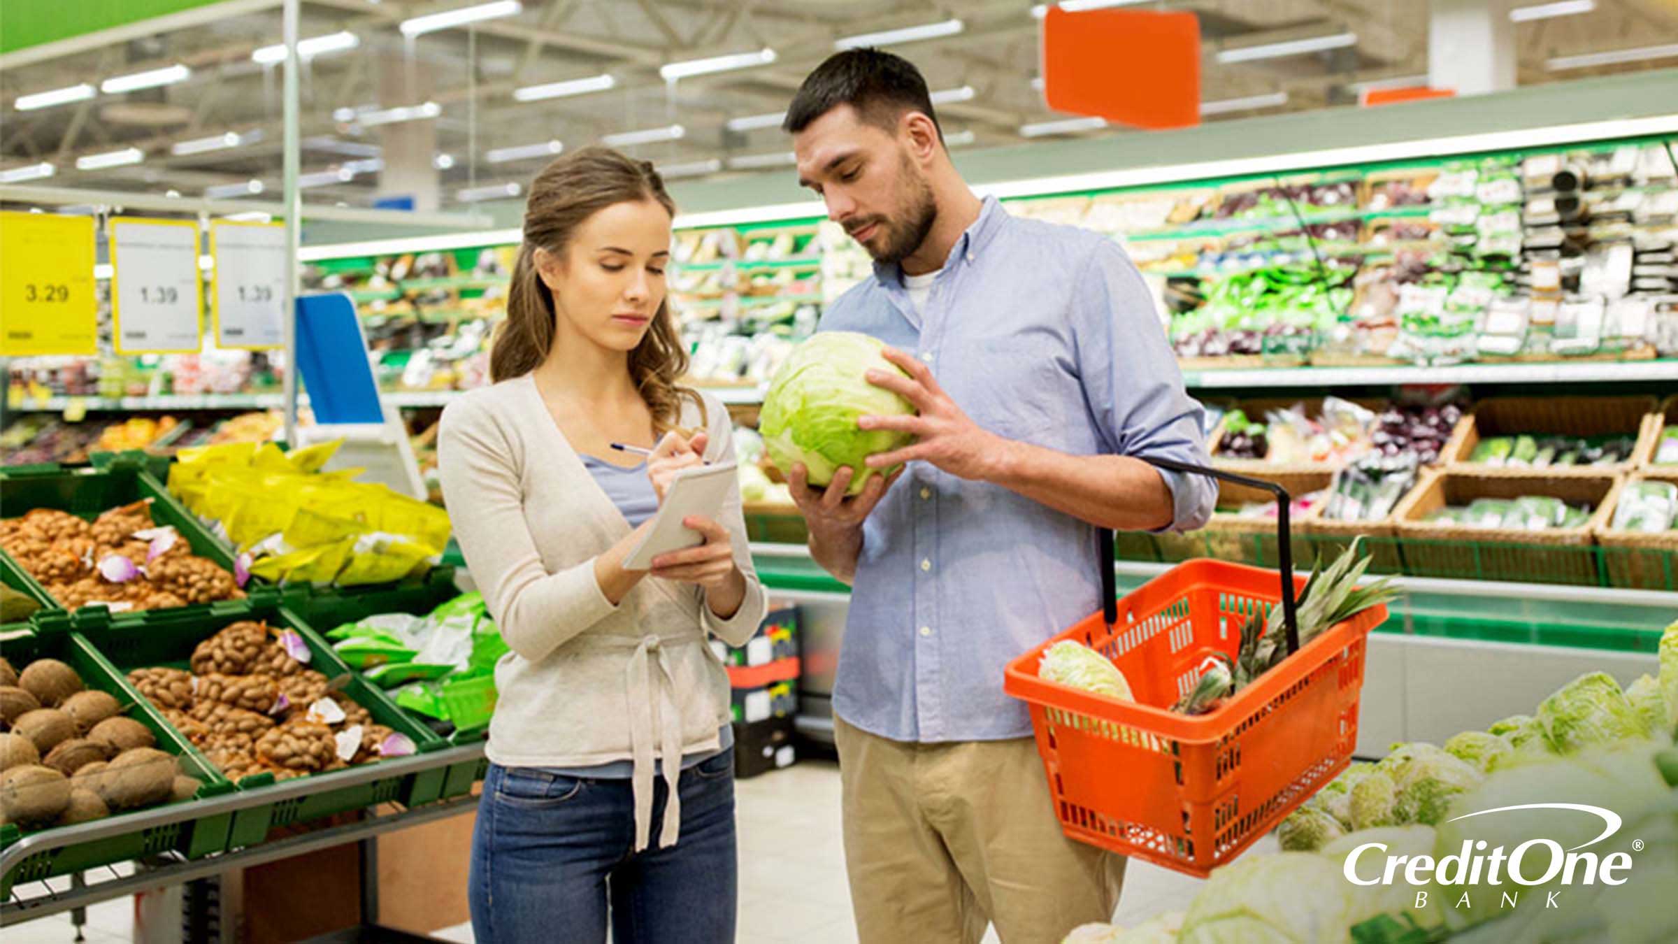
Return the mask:
<svg viewBox="0 0 1678 944">
<path fill-rule="evenodd" d="M 221 796 L 233 791 L 233 784 L 210 766 L 146 699 L 139 697 L 139 692 L 128 684 L 128 679 L 79 633 L 30 633 L 5 640 L 3 648 L 5 657 L 17 669 L 29 665 L 35 658 L 57 658 L 76 669 L 76 674 L 82 677 L 82 684 L 87 689 L 111 692 L 119 702 L 133 705 L 124 714 L 151 729 L 158 737 L 159 751 L 168 751 L 180 758 L 181 773 L 203 781 L 203 786 L 198 788 L 198 798 Z M 148 810 L 156 808 L 151 806 Z M 131 816 L 131 813 L 119 813 L 116 818 L 121 820 L 122 816 Z M 18 882 L 39 882 L 55 875 L 86 872 L 99 865 L 164 852 L 176 852 L 186 858 L 203 858 L 227 848 L 232 823 L 233 813 L 218 813 L 168 826 L 136 828 L 133 833 L 42 850 L 20 862 L 5 877 L 0 877 L 0 899 L 10 895 L 12 887 Z M 17 825 L 7 823 L 0 826 L 0 850 L 8 848 L 20 838 L 23 838 L 23 831 Z"/>
</svg>

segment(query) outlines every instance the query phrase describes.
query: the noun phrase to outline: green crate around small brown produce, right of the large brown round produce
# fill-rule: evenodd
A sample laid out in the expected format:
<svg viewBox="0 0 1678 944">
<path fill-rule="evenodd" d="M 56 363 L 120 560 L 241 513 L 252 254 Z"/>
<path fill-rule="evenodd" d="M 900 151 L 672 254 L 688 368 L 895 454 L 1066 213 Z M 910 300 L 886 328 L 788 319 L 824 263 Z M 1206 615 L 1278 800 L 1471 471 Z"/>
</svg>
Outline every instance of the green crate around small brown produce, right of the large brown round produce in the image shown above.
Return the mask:
<svg viewBox="0 0 1678 944">
<path fill-rule="evenodd" d="M 146 616 L 146 620 L 138 620 L 136 616 Z M 398 709 L 378 685 L 371 685 L 359 674 L 351 672 L 332 652 L 332 647 L 302 616 L 280 605 L 267 603 L 252 606 L 243 613 L 213 618 L 178 610 L 121 613 L 111 616 L 102 627 L 84 627 L 82 632 L 99 652 L 121 672 L 128 674 L 134 669 L 159 665 L 188 669 L 193 648 L 200 642 L 238 620 L 260 620 L 270 627 L 297 630 L 312 653 L 310 669 L 326 674 L 329 679 L 349 675 L 349 684 L 342 689 L 342 694 L 366 707 L 374 722 L 406 734 L 421 753 L 440 751 L 448 746 L 441 737 L 425 726 L 416 724 L 408 714 Z M 394 774 L 334 789 L 331 781 L 339 773 L 346 771 L 309 774 L 312 781 L 319 783 L 317 793 L 235 811 L 228 848 L 258 845 L 277 826 L 307 823 L 379 803 L 420 806 L 435 801 L 443 793 L 443 768 L 416 774 Z M 274 786 L 274 776 L 250 776 L 238 781 L 237 786 L 238 789 L 263 789 Z"/>
</svg>

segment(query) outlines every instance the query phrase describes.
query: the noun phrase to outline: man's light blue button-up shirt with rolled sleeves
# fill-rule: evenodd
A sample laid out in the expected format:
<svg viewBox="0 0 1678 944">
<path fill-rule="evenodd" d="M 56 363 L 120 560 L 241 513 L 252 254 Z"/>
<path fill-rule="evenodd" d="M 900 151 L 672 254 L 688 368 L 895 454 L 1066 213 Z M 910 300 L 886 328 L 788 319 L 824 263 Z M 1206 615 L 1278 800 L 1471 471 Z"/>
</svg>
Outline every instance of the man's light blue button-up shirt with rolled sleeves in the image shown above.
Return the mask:
<svg viewBox="0 0 1678 944">
<path fill-rule="evenodd" d="M 1210 464 L 1153 297 L 1113 240 L 987 198 L 916 314 L 896 265 L 841 296 L 822 331 L 925 359 L 980 427 L 1071 455 Z M 1173 527 L 1217 485 L 1161 472 Z M 1096 531 L 1017 492 L 913 462 L 862 526 L 834 711 L 894 741 L 1029 736 L 1008 660 L 1101 608 Z"/>
</svg>

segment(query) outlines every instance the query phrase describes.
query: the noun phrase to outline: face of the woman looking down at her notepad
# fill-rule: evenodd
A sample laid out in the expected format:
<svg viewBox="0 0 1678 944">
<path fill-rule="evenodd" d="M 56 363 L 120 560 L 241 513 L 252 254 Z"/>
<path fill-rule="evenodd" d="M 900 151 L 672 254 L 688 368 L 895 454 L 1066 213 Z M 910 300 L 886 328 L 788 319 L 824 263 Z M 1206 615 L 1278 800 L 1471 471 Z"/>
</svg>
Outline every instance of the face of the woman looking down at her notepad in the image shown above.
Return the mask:
<svg viewBox="0 0 1678 944">
<path fill-rule="evenodd" d="M 554 292 L 555 336 L 581 334 L 611 351 L 633 351 L 664 302 L 670 213 L 653 200 L 612 203 L 572 233 L 564 259 L 539 252 Z"/>
</svg>

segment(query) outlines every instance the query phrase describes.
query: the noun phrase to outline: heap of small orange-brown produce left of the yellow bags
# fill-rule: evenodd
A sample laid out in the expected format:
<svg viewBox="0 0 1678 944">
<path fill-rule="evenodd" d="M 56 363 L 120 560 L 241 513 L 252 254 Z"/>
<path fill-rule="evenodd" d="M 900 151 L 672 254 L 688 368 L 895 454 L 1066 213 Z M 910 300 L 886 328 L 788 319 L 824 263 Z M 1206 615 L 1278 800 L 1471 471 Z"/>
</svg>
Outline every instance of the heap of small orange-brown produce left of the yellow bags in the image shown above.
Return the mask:
<svg viewBox="0 0 1678 944">
<path fill-rule="evenodd" d="M 92 522 L 55 509 L 0 521 L 0 548 L 67 608 L 161 610 L 242 600 L 243 580 L 198 558 L 175 527 L 158 527 L 151 499 Z"/>
</svg>

